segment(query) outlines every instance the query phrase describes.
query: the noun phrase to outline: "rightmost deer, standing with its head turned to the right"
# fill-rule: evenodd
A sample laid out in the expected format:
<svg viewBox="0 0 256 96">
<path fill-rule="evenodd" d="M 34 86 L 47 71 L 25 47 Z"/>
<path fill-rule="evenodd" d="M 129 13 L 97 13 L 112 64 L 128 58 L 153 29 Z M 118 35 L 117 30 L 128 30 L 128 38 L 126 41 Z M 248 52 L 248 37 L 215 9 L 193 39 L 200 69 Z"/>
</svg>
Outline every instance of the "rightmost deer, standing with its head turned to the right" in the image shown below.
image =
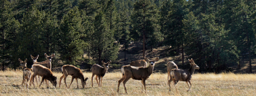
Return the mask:
<svg viewBox="0 0 256 96">
<path fill-rule="evenodd" d="M 193 59 L 191 59 L 191 60 L 188 59 L 188 61 L 189 61 L 189 64 L 191 65 L 188 70 L 172 69 L 172 71 L 170 73 L 171 78 L 170 78 L 170 80 L 168 80 L 169 91 L 171 91 L 171 86 L 170 86 L 171 81 L 173 81 L 174 87 L 179 81 L 185 81 L 189 87 L 187 92 L 188 91 L 191 92 L 190 88 L 191 88 L 192 84 L 191 84 L 190 80 L 192 78 L 192 75 L 195 72 L 195 69 L 199 69 L 199 67 L 195 64 Z M 188 83 L 190 84 L 190 86 Z"/>
</svg>

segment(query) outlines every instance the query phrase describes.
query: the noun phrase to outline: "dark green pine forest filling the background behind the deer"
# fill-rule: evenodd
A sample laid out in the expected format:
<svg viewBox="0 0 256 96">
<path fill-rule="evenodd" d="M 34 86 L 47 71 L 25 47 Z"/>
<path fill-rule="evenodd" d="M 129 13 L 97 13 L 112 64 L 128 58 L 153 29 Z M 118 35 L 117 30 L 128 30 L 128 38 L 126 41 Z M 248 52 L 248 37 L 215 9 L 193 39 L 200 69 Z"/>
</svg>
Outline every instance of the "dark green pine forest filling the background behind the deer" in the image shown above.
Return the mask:
<svg viewBox="0 0 256 96">
<path fill-rule="evenodd" d="M 232 71 L 248 62 L 252 73 L 255 37 L 255 0 L 0 0 L 3 71 L 19 68 L 19 58 L 30 68 L 30 55 L 41 62 L 44 53 L 55 53 L 53 67 L 90 70 L 112 60 L 120 68 L 131 61 L 127 52 L 142 59 L 164 48 L 161 57 L 180 56 L 184 66 L 193 58 L 199 72 Z"/>
</svg>

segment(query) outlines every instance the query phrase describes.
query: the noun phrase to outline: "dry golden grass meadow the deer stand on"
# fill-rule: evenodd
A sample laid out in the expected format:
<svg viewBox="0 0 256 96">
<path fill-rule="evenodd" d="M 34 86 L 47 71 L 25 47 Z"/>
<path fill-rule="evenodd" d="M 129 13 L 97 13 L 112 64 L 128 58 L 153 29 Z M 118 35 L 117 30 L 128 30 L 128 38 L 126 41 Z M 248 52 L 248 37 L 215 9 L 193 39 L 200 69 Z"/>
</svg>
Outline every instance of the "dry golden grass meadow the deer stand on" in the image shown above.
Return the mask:
<svg viewBox="0 0 256 96">
<path fill-rule="evenodd" d="M 59 88 L 59 80 L 61 73 L 53 73 L 57 76 L 57 88 L 54 89 L 52 84 L 49 83 L 50 88 L 46 88 L 43 84 L 40 88 L 37 84 L 36 87 L 29 87 L 29 92 L 24 91 L 22 83 L 21 71 L 0 71 L 0 95 L 2 96 L 30 96 L 30 95 L 51 95 L 51 96 L 65 96 L 65 95 L 149 95 L 149 96 L 255 96 L 256 95 L 256 74 L 194 74 L 192 76 L 191 92 L 186 92 L 188 86 L 185 82 L 177 84 L 177 91 L 173 84 L 171 91 L 167 85 L 167 74 L 153 73 L 146 80 L 147 94 L 143 90 L 141 93 L 141 86 L 139 80 L 130 79 L 126 83 L 128 94 L 125 94 L 123 84 L 120 85 L 119 93 L 116 92 L 118 80 L 121 78 L 121 72 L 107 73 L 102 80 L 102 88 L 98 87 L 96 80 L 93 80 L 94 86 L 92 88 L 91 75 L 92 73 L 84 73 L 85 77 L 89 79 L 86 82 L 86 88 L 82 89 L 81 80 L 78 79 L 79 88 L 76 88 L 76 81 L 71 84 L 71 88 L 67 89 L 62 80 L 61 87 Z M 95 77 L 94 77 L 95 78 Z M 71 76 L 67 78 L 69 85 Z"/>
</svg>

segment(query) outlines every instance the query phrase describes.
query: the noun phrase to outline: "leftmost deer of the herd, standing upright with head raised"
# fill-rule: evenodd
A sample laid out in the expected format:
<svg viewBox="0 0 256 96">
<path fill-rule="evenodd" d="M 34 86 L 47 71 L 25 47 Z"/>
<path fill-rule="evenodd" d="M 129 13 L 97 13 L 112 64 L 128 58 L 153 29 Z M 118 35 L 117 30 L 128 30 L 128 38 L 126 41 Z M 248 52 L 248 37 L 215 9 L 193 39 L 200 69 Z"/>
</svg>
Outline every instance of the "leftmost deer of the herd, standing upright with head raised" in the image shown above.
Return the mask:
<svg viewBox="0 0 256 96">
<path fill-rule="evenodd" d="M 31 70 L 29 68 L 27 68 L 27 61 L 28 61 L 27 59 L 25 59 L 24 62 L 19 59 L 20 67 L 22 68 L 22 71 L 23 71 L 23 80 L 22 80 L 21 86 L 23 86 L 23 83 L 25 83 L 25 89 L 26 89 L 26 86 L 28 88 L 28 82 L 29 82 L 29 79 L 32 74 Z M 26 80 L 27 80 L 27 82 L 26 82 Z"/>
</svg>

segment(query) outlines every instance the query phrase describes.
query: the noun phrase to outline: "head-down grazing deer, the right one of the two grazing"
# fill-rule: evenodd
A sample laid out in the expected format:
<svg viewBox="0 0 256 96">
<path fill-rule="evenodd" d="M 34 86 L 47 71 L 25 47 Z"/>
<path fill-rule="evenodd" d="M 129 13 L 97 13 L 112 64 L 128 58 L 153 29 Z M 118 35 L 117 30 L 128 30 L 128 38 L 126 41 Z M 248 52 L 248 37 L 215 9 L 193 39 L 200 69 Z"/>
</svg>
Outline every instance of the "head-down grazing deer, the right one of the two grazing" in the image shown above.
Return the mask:
<svg viewBox="0 0 256 96">
<path fill-rule="evenodd" d="M 72 84 L 74 79 L 76 79 L 76 84 L 77 84 L 77 88 L 78 88 L 77 78 L 79 78 L 81 80 L 83 88 L 84 88 L 84 84 L 86 85 L 86 81 L 87 81 L 88 77 L 84 79 L 83 72 L 80 70 L 80 68 L 77 68 L 72 65 L 63 65 L 61 67 L 61 71 L 62 71 L 62 76 L 60 77 L 60 84 L 61 84 L 61 80 L 64 78 L 64 82 L 65 82 L 65 85 L 67 88 L 70 88 L 70 85 Z M 68 87 L 67 83 L 66 83 L 66 79 L 69 75 L 72 76 L 72 79 L 71 79 L 71 83 Z M 59 84 L 59 87 L 60 87 L 60 84 Z"/>
</svg>

